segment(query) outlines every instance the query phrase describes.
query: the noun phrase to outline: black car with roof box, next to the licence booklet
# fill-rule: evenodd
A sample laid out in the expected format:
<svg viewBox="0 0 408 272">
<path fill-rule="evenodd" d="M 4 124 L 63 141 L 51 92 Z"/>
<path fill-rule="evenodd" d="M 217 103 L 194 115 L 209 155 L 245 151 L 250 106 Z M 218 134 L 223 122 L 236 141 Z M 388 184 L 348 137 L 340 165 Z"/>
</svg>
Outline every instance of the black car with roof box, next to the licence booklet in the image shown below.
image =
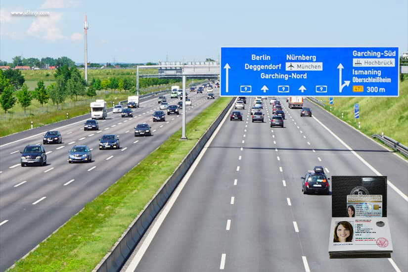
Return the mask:
<svg viewBox="0 0 408 272">
<path fill-rule="evenodd" d="M 323 167 L 315 166 L 313 171 L 308 171 L 302 179 L 302 192 L 330 194 L 330 178 L 324 174 Z"/>
</svg>

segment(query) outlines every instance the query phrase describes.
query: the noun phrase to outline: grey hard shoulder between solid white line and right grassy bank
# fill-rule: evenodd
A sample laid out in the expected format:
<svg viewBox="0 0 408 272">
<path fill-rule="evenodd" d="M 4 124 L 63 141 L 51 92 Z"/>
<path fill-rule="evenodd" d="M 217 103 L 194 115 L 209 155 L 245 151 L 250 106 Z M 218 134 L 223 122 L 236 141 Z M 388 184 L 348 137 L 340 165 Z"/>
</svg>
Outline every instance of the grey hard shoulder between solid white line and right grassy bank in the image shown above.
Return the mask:
<svg viewBox="0 0 408 272">
<path fill-rule="evenodd" d="M 408 163 L 406 160 L 397 157 L 395 154 L 392 154 L 392 152 L 389 152 L 384 147 L 371 139 L 368 139 L 354 129 L 350 129 L 349 126 L 345 125 L 331 114 L 328 114 L 316 104 L 306 101 L 305 105 L 313 110 L 313 115 L 315 115 L 318 120 L 325 124 L 325 126 L 335 135 L 339 136 L 366 162 L 381 173 L 381 175 L 387 176 L 388 179 L 405 195 L 408 194 L 408 183 L 406 182 L 408 180 Z M 364 147 L 363 149 L 362 146 Z"/>
</svg>

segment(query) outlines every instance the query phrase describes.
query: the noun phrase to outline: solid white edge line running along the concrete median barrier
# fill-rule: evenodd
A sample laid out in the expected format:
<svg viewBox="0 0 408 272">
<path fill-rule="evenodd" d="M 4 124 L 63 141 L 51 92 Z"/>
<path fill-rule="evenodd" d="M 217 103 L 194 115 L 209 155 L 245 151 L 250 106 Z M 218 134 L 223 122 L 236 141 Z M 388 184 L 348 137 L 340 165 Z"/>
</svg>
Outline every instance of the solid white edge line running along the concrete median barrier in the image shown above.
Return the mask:
<svg viewBox="0 0 408 272">
<path fill-rule="evenodd" d="M 230 112 L 232 109 L 233 105 L 229 108 L 227 112 Z M 203 149 L 201 152 L 198 154 L 197 158 L 191 165 L 191 167 L 188 169 L 187 173 L 184 175 L 182 180 L 180 181 L 179 185 L 175 188 L 174 192 L 172 193 L 171 197 L 169 200 L 166 202 L 165 206 L 162 208 L 161 213 L 158 215 L 157 220 L 152 224 L 150 229 L 148 230 L 148 233 L 145 234 L 144 240 L 142 240 L 139 244 L 140 247 L 136 252 L 135 257 L 132 259 L 131 263 L 129 264 L 129 267 L 126 269 L 126 272 L 134 272 L 136 270 L 137 265 L 139 264 L 141 258 L 143 257 L 144 253 L 146 252 L 147 248 L 149 247 L 151 241 L 153 240 L 154 236 L 156 235 L 157 231 L 159 230 L 160 226 L 162 225 L 163 221 L 165 220 L 167 214 L 170 212 L 170 209 L 176 202 L 177 198 L 179 197 L 181 190 L 187 183 L 188 179 L 190 178 L 191 174 L 194 172 L 195 168 L 197 165 L 200 163 L 201 158 L 204 156 L 205 152 L 207 151 L 208 147 L 212 143 L 213 139 L 215 136 L 217 136 L 218 132 L 220 131 L 221 127 L 229 117 L 229 114 L 226 114 L 221 123 L 218 125 L 216 130 L 214 131 L 213 135 L 208 139 L 206 144 L 204 145 Z"/>
</svg>

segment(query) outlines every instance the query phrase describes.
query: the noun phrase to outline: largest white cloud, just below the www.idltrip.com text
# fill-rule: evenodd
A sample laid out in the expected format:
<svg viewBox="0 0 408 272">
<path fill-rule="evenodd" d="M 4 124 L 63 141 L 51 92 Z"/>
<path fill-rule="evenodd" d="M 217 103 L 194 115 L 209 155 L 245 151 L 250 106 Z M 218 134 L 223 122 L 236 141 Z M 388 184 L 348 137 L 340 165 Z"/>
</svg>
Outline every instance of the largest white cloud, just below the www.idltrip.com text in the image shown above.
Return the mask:
<svg viewBox="0 0 408 272">
<path fill-rule="evenodd" d="M 49 42 L 68 39 L 62 35 L 57 23 L 61 20 L 62 14 L 52 12 L 49 16 L 37 17 L 27 30 L 27 34 L 37 38 L 45 39 Z"/>
</svg>

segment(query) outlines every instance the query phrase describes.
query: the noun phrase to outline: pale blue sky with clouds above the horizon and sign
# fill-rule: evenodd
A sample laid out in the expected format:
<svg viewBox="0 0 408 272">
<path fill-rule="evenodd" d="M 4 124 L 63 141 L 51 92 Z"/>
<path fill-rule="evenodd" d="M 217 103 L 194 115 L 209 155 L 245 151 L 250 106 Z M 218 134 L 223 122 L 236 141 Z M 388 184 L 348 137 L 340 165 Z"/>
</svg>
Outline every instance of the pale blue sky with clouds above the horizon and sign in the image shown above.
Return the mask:
<svg viewBox="0 0 408 272">
<path fill-rule="evenodd" d="M 11 15 L 11 11 L 50 15 Z M 397 46 L 408 51 L 407 0 L 1 0 L 0 59 L 202 61 L 221 46 Z"/>
</svg>

